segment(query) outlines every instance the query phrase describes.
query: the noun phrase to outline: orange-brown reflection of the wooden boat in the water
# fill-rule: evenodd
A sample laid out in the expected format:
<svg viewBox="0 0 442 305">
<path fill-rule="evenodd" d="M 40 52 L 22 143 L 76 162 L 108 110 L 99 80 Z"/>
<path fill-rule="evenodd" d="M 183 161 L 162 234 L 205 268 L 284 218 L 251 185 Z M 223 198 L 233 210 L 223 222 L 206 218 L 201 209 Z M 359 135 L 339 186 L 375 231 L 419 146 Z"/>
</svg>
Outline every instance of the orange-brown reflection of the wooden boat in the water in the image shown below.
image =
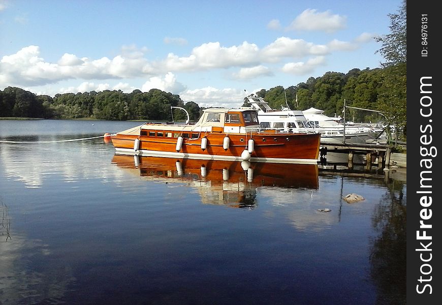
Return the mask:
<svg viewBox="0 0 442 305">
<path fill-rule="evenodd" d="M 186 182 L 204 204 L 254 208 L 260 187 L 318 189 L 317 164 L 250 163 L 114 155 L 112 163 L 141 177 Z"/>
</svg>

